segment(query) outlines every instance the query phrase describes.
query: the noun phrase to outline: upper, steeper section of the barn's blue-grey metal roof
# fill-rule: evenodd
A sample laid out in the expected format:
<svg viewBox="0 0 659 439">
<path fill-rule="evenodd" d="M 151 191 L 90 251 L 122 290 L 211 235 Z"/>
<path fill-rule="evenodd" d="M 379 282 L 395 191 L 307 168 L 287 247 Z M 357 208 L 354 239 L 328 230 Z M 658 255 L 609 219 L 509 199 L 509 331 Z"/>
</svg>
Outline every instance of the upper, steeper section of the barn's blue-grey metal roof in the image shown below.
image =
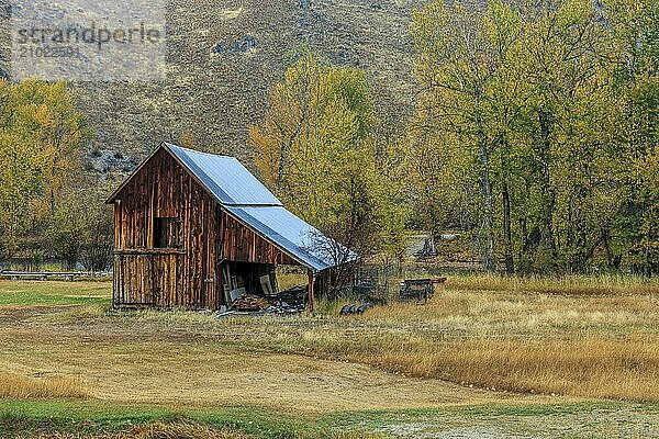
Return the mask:
<svg viewBox="0 0 659 439">
<path fill-rule="evenodd" d="M 224 205 L 281 205 L 281 202 L 236 158 L 167 144 L 167 148 Z"/>
</svg>

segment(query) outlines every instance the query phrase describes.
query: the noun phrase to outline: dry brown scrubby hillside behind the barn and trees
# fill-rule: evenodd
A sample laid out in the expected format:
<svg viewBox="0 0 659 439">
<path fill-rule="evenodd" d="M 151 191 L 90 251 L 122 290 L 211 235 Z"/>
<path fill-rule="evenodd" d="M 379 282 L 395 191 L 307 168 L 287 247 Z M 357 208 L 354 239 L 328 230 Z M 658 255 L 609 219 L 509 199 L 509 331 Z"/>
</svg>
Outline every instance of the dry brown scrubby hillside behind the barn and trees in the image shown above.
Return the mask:
<svg viewBox="0 0 659 439">
<path fill-rule="evenodd" d="M 250 162 L 247 127 L 259 121 L 291 55 L 309 46 L 367 70 L 384 125 L 413 109 L 409 0 L 172 0 L 161 83 L 78 83 L 97 135 L 100 171 L 134 167 L 158 142 L 190 131 L 209 149 Z M 4 53 L 3 63 L 8 56 Z"/>
</svg>

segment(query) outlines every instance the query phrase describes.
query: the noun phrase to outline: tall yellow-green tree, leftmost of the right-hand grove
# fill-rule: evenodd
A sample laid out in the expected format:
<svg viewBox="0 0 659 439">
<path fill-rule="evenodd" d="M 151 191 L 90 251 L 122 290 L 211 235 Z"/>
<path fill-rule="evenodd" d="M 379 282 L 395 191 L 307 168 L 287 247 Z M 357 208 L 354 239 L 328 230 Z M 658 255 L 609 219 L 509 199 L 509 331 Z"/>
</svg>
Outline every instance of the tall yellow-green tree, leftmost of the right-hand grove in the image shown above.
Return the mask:
<svg viewBox="0 0 659 439">
<path fill-rule="evenodd" d="M 509 58 L 518 29 L 518 14 L 503 3 L 487 12 L 432 3 L 412 15 L 421 87 L 412 128 L 426 217 L 436 234 L 438 212 L 462 207 L 488 271 L 496 266 L 493 155 L 514 112 L 502 98 L 514 88 Z"/>
</svg>

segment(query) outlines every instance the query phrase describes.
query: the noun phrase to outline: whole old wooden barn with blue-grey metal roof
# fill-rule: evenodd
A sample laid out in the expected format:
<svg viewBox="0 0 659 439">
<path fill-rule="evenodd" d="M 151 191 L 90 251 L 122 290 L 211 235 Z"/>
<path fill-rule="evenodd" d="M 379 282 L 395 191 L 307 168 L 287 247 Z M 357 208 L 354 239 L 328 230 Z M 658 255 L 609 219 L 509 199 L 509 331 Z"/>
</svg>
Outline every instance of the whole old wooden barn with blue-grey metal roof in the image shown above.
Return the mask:
<svg viewBox="0 0 659 439">
<path fill-rule="evenodd" d="M 110 195 L 115 307 L 216 309 L 235 291 L 268 294 L 276 266 L 326 288 L 342 248 L 291 212 L 237 159 L 160 144 Z M 354 254 L 347 251 L 351 260 Z"/>
</svg>

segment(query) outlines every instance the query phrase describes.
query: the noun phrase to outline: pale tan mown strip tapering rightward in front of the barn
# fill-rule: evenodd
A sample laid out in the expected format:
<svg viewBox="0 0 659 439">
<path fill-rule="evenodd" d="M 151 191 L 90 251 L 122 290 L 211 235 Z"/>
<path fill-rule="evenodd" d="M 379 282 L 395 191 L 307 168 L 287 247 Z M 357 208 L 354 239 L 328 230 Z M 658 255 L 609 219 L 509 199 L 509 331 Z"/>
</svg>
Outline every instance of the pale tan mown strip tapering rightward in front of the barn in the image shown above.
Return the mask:
<svg viewBox="0 0 659 439">
<path fill-rule="evenodd" d="M 299 412 L 558 402 L 414 379 L 364 364 L 244 349 L 167 323 L 59 318 L 62 308 L 4 308 L 0 368 L 80 378 L 98 398 L 258 405 Z"/>
</svg>

